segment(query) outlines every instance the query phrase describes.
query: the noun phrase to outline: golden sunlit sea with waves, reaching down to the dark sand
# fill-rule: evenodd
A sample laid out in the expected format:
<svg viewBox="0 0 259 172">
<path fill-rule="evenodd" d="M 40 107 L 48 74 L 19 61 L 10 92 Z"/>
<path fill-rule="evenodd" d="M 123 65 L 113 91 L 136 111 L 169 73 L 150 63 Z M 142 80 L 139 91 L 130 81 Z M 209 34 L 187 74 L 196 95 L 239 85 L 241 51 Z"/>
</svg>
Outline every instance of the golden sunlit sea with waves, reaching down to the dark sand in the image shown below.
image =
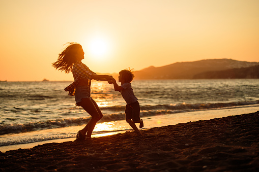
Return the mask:
<svg viewBox="0 0 259 172">
<path fill-rule="evenodd" d="M 91 116 L 64 91 L 71 83 L 0 82 L 0 151 L 75 140 Z M 133 80 L 132 88 L 143 129 L 259 110 L 258 79 Z M 112 84 L 93 81 L 91 97 L 103 113 L 93 137 L 131 130 L 126 102 Z"/>
</svg>

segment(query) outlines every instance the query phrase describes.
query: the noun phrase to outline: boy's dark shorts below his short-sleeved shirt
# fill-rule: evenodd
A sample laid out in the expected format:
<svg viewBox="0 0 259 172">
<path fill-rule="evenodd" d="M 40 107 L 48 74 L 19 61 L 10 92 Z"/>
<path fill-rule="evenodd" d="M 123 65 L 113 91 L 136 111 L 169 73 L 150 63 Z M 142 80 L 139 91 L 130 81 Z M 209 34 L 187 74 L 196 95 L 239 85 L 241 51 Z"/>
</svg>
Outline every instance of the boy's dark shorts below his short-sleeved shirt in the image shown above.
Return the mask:
<svg viewBox="0 0 259 172">
<path fill-rule="evenodd" d="M 126 105 L 125 114 L 126 119 L 132 119 L 133 122 L 140 120 L 140 107 L 139 102 L 135 101 Z"/>
</svg>

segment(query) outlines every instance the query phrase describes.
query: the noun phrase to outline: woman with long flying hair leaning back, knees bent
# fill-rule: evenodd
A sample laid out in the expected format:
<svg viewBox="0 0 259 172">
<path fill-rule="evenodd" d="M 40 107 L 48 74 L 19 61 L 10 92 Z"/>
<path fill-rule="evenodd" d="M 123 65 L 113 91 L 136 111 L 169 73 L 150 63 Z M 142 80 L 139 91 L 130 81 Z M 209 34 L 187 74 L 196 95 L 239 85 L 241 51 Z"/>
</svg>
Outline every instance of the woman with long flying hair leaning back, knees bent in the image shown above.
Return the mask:
<svg viewBox="0 0 259 172">
<path fill-rule="evenodd" d="M 85 134 L 87 140 L 91 140 L 92 132 L 95 128 L 97 121 L 99 121 L 103 114 L 90 96 L 91 80 L 110 81 L 112 76 L 97 75 L 91 71 L 87 65 L 81 62 L 84 59 L 84 52 L 82 46 L 77 43 L 67 43 L 66 49 L 59 54 L 57 61 L 52 63 L 52 66 L 58 70 L 65 71 L 66 74 L 72 71 L 74 82 L 65 88 L 68 95 L 74 95 L 76 106 L 81 106 L 89 115 L 92 116 L 88 124 L 79 130 L 76 135 L 76 141 L 84 141 Z"/>
</svg>

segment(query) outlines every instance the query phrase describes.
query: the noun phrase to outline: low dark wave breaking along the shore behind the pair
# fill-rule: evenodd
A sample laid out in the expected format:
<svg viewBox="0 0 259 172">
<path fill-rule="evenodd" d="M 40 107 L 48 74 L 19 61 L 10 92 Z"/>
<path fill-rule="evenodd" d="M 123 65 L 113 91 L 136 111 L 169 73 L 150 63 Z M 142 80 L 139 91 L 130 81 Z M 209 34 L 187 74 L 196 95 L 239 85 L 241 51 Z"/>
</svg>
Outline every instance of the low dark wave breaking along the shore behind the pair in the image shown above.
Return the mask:
<svg viewBox="0 0 259 172">
<path fill-rule="evenodd" d="M 141 106 L 140 116 L 149 117 L 149 116 L 155 116 L 155 115 L 176 114 L 176 113 L 191 112 L 191 111 L 235 108 L 238 106 L 255 105 L 255 104 L 259 104 L 259 100 L 218 103 L 218 104 L 189 104 L 189 105 L 180 104 L 180 105 Z M 112 111 L 113 113 L 105 114 L 103 118 L 98 122 L 118 121 L 118 120 L 125 119 L 125 113 L 118 113 L 118 111 L 124 111 L 125 109 L 124 106 L 104 107 L 101 109 L 109 110 L 109 111 Z M 5 124 L 0 126 L 0 135 L 8 134 L 8 133 L 19 133 L 19 132 L 28 132 L 28 131 L 34 131 L 34 130 L 42 130 L 42 129 L 49 129 L 49 128 L 83 125 L 83 124 L 87 124 L 90 119 L 91 117 L 48 120 L 48 121 L 27 123 L 27 124 Z"/>
</svg>

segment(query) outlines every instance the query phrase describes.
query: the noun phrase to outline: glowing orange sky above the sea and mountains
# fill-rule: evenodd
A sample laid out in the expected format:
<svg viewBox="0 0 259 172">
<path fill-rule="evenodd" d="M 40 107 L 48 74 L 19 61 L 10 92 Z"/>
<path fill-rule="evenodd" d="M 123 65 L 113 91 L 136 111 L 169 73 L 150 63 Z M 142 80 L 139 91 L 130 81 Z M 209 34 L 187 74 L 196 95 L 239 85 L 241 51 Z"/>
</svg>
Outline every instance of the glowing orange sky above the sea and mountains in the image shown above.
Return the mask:
<svg viewBox="0 0 259 172">
<path fill-rule="evenodd" d="M 83 63 L 97 73 L 214 58 L 259 62 L 258 9 L 258 0 L 2 0 L 0 80 L 73 80 L 51 66 L 67 42 L 83 46 Z"/>
</svg>

